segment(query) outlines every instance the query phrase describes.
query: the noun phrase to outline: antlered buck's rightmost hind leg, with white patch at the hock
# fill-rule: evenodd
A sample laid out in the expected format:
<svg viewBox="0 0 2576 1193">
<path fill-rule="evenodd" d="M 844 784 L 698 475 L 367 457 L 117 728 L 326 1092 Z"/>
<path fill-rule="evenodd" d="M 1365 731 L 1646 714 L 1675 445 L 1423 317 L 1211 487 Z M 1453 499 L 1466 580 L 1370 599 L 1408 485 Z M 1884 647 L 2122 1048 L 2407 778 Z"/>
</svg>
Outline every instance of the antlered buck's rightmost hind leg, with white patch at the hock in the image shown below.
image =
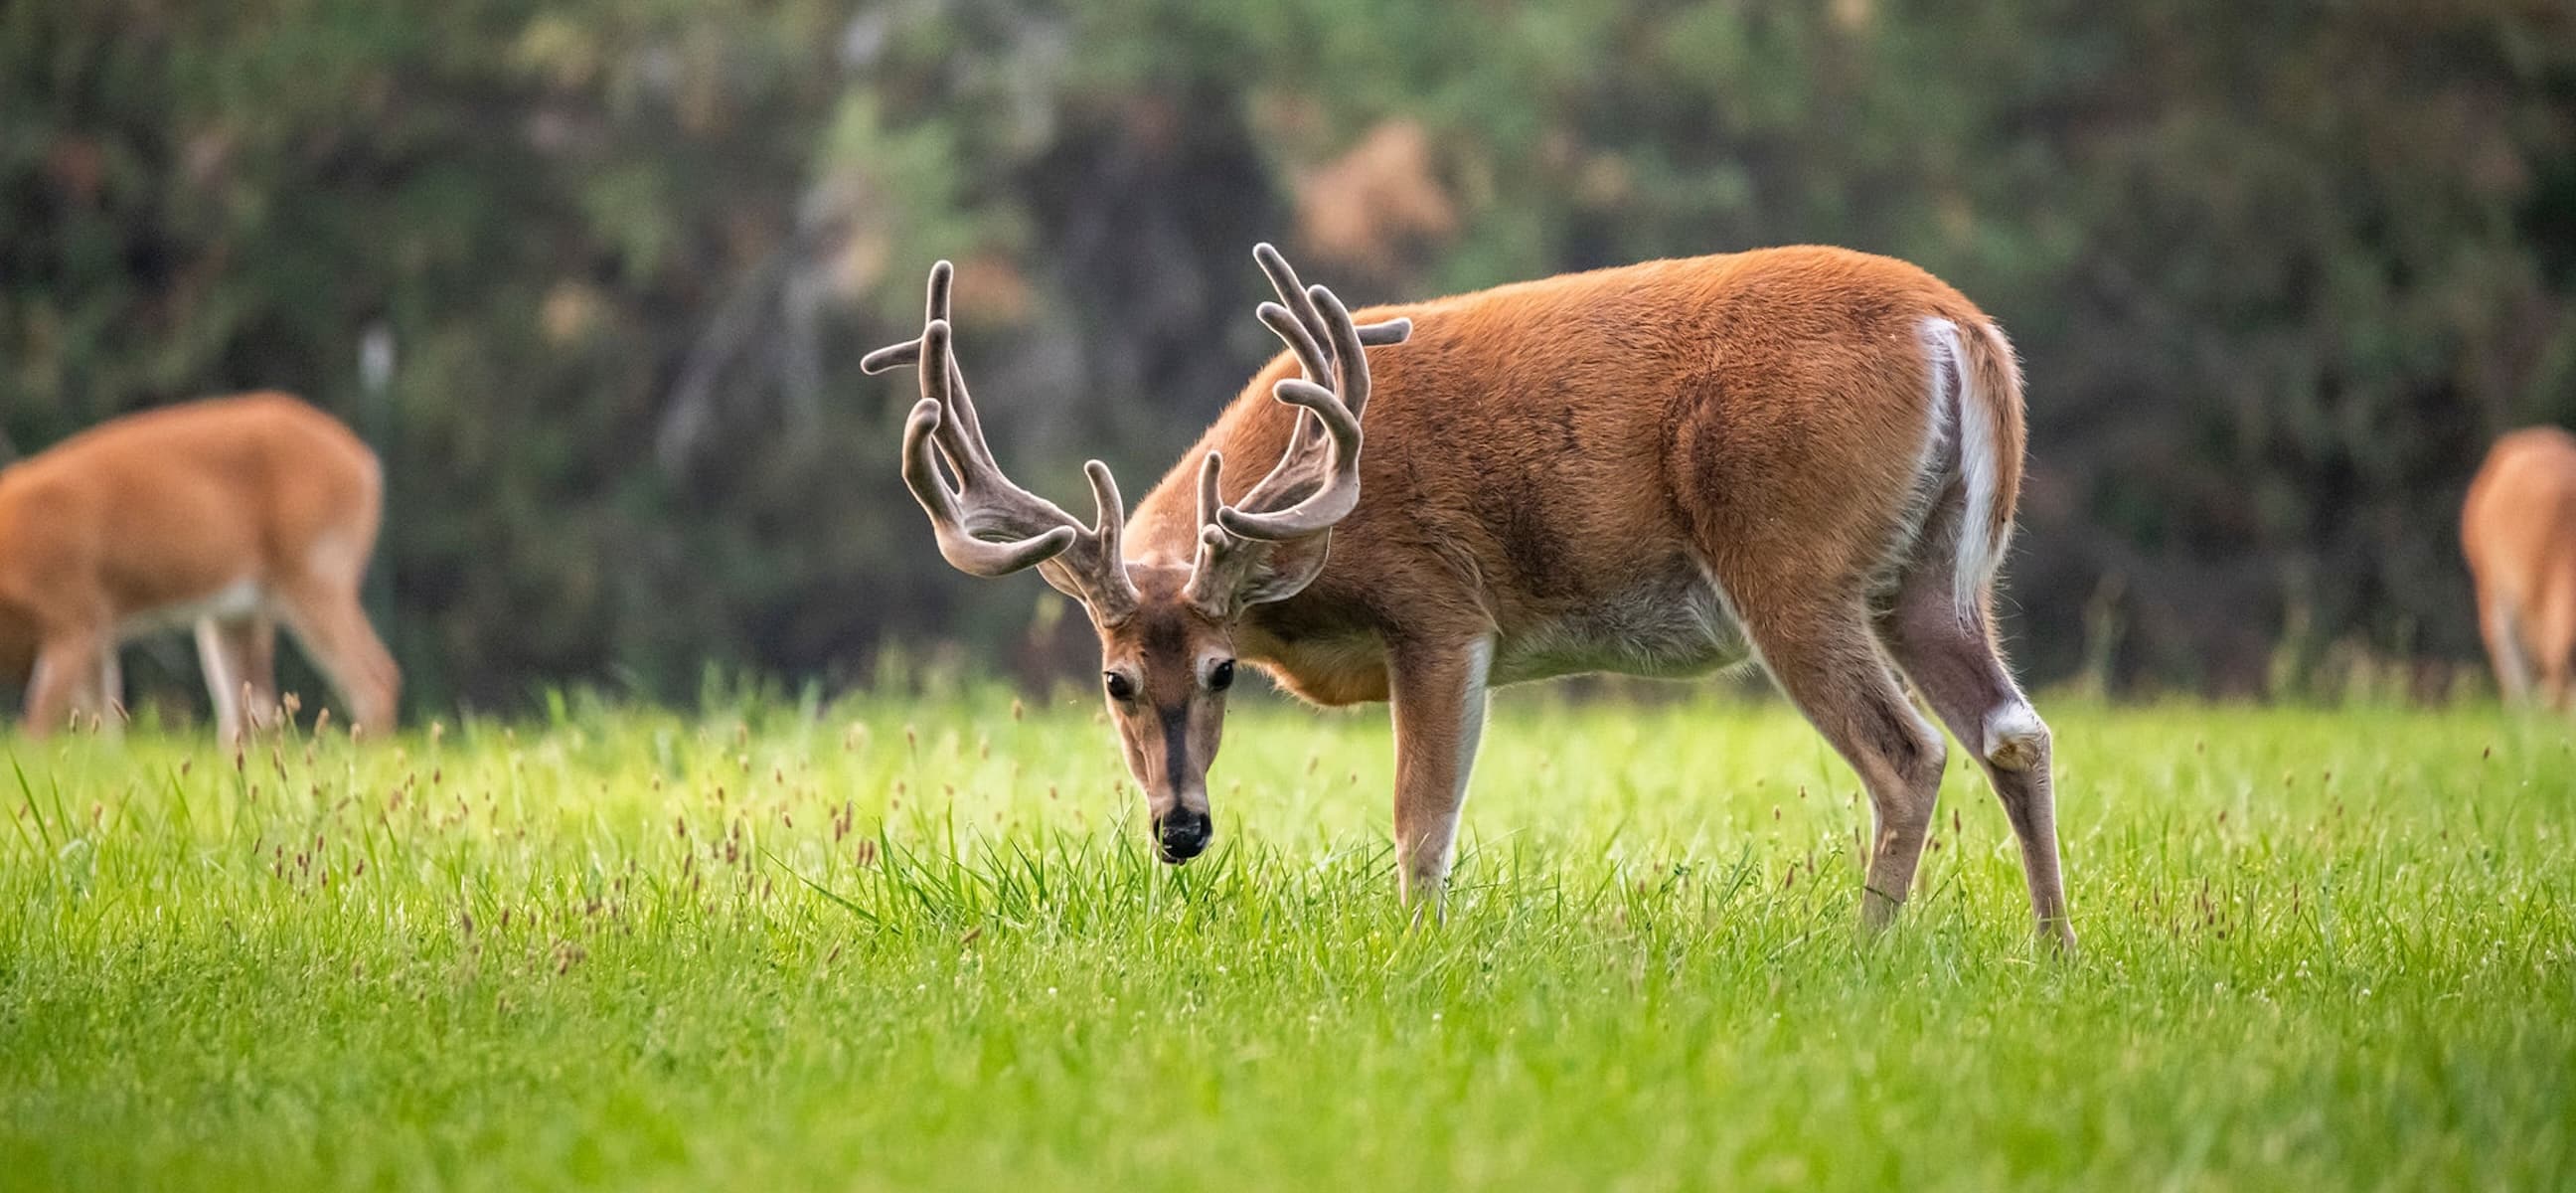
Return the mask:
<svg viewBox="0 0 2576 1193">
<path fill-rule="evenodd" d="M 1984 600 L 1978 600 L 1984 606 Z M 1986 608 L 1958 608 L 1947 575 L 1909 577 L 1896 608 L 1880 618 L 1880 634 L 1924 693 L 1932 711 L 1976 755 L 1994 796 L 2022 843 L 2022 876 L 2030 881 L 2030 912 L 2043 938 L 2074 948 L 2074 922 L 2066 917 L 2066 879 L 2058 871 L 2056 781 L 2048 773 L 2048 724 L 2012 683 Z"/>
</svg>

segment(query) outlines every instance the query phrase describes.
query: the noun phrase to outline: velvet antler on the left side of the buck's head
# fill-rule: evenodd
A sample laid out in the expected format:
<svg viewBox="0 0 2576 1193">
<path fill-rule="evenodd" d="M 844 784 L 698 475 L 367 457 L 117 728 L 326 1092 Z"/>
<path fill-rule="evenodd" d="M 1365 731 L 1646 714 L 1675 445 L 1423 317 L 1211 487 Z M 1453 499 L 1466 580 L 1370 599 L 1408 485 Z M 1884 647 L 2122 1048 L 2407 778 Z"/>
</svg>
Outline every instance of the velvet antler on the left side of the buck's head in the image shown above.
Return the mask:
<svg viewBox="0 0 2576 1193">
<path fill-rule="evenodd" d="M 1118 482 L 1097 459 L 1082 466 L 1097 505 L 1092 526 L 1082 526 L 1056 502 L 1002 474 L 992 446 L 984 443 L 984 425 L 976 420 L 951 345 L 953 276 L 956 268 L 945 260 L 930 268 L 930 307 L 920 340 L 886 345 L 858 361 L 866 374 L 907 363 L 922 371 L 922 399 L 904 423 L 904 487 L 922 502 L 940 539 L 940 557 L 958 572 L 997 577 L 1038 567 L 1048 585 L 1090 606 L 1095 618 L 1118 621 L 1136 608 L 1136 587 L 1118 554 L 1118 531 L 1126 526 Z M 943 459 L 956 474 L 953 487 L 940 474 Z"/>
</svg>

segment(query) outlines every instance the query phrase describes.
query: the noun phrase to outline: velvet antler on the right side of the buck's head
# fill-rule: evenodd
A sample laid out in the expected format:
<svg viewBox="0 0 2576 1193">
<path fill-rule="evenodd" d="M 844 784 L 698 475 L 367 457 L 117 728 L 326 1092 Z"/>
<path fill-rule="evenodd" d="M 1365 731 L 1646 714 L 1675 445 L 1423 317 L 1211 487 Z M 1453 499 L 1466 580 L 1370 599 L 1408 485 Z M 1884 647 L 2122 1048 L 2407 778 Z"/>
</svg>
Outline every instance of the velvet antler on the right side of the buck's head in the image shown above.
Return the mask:
<svg viewBox="0 0 2576 1193">
<path fill-rule="evenodd" d="M 1404 343 L 1414 330 L 1412 320 L 1360 327 L 1329 289 L 1301 283 L 1275 247 L 1257 245 L 1252 258 L 1280 296 L 1265 301 L 1257 314 L 1288 343 L 1303 376 L 1270 389 L 1280 402 L 1298 407 L 1298 417 L 1288 451 L 1252 492 L 1234 505 L 1218 500 L 1224 459 L 1216 451 L 1198 469 L 1198 562 L 1185 593 L 1213 611 L 1285 598 L 1321 572 L 1324 551 L 1309 551 L 1296 575 L 1262 575 L 1262 567 L 1273 546 L 1332 533 L 1334 523 L 1360 502 L 1365 348 Z"/>
</svg>

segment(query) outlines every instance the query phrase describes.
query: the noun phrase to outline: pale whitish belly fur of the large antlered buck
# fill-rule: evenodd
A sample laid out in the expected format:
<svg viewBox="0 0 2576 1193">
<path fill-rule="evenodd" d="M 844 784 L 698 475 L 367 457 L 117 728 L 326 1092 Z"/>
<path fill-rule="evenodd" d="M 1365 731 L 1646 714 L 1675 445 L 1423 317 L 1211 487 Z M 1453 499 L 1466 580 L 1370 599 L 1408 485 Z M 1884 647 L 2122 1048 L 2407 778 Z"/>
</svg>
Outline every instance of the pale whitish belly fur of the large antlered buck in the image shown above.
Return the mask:
<svg viewBox="0 0 2576 1193">
<path fill-rule="evenodd" d="M 1641 577 L 1577 613 L 1502 634 L 1494 683 L 1613 673 L 1708 675 L 1752 657 L 1726 595 L 1698 564 Z"/>
</svg>

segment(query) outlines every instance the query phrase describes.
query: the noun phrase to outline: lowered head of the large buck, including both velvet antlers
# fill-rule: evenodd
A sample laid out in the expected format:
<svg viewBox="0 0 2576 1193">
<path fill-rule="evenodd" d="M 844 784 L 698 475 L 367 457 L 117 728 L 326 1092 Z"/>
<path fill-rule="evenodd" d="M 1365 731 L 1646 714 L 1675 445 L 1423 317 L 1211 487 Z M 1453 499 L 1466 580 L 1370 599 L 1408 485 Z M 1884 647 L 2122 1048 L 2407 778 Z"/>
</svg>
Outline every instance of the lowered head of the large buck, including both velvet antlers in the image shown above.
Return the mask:
<svg viewBox="0 0 2576 1193">
<path fill-rule="evenodd" d="M 1195 554 L 1128 559 L 1121 551 L 1126 508 L 1118 482 L 1097 459 L 1092 523 L 1002 474 L 951 345 L 948 289 L 953 268 L 930 271 L 930 307 L 920 340 L 878 348 L 860 368 L 920 368 L 922 399 L 904 423 L 904 487 L 922 502 L 940 557 L 969 575 L 1036 567 L 1072 595 L 1100 634 L 1100 685 L 1126 750 L 1128 773 L 1146 794 L 1154 848 L 1182 863 L 1208 848 L 1208 763 L 1224 734 L 1226 691 L 1234 685 L 1234 634 L 1247 608 L 1285 600 L 1324 569 L 1332 528 L 1360 502 L 1360 415 L 1368 407 L 1370 345 L 1404 343 L 1412 322 L 1355 325 L 1324 286 L 1303 286 L 1270 245 L 1255 247 L 1280 301 L 1260 320 L 1296 353 L 1301 376 L 1273 387 L 1298 407 L 1285 453 L 1239 500 L 1224 502 L 1224 459 L 1208 451 L 1198 469 Z M 956 479 L 951 479 L 951 474 Z"/>
</svg>

